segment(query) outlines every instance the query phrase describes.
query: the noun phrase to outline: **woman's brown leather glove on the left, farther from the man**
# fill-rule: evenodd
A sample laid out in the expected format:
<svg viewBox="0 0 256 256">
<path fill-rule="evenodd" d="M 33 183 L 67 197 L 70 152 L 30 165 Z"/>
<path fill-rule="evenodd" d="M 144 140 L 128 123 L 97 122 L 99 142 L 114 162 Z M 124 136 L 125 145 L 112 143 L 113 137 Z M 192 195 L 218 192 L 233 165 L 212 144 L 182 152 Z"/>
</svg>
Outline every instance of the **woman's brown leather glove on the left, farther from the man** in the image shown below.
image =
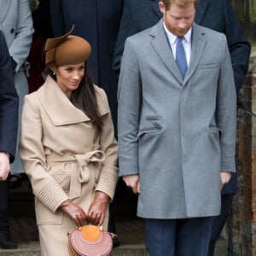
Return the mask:
<svg viewBox="0 0 256 256">
<path fill-rule="evenodd" d="M 73 203 L 73 201 L 64 201 L 60 207 L 63 212 L 73 218 L 74 223 L 78 227 L 82 226 L 87 219 L 84 210 L 79 205 Z"/>
</svg>

